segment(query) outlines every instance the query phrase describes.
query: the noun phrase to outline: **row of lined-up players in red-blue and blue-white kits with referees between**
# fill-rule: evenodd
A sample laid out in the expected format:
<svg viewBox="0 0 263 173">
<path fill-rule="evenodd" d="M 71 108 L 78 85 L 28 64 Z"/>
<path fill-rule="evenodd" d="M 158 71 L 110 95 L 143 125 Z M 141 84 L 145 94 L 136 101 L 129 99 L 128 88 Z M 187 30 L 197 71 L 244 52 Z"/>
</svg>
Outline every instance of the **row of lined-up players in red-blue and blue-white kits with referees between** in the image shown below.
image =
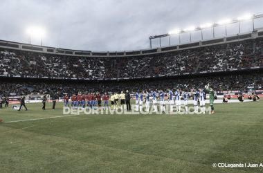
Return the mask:
<svg viewBox="0 0 263 173">
<path fill-rule="evenodd" d="M 205 100 L 206 93 L 209 94 L 210 107 L 212 109 L 212 113 L 215 113 L 214 110 L 214 100 L 215 100 L 215 91 L 212 89 L 212 86 L 205 86 L 205 90 L 203 89 L 190 89 L 188 91 L 181 91 L 180 89 L 167 89 L 167 97 L 165 98 L 165 92 L 163 90 L 149 90 L 149 91 L 138 91 L 134 93 L 135 96 L 135 109 L 134 111 L 143 111 L 143 104 L 145 104 L 146 111 L 150 109 L 150 102 L 152 103 L 152 107 L 155 111 L 158 111 L 157 104 L 160 105 L 160 110 L 165 111 L 165 105 L 167 104 L 165 101 L 168 101 L 170 104 L 169 112 L 173 112 L 174 104 L 176 105 L 176 112 L 181 112 L 181 100 L 183 100 L 183 105 L 185 108 L 185 112 L 188 112 L 188 98 L 190 95 L 193 96 L 194 99 L 194 112 L 198 113 L 198 110 L 201 110 L 201 113 L 205 113 Z M 57 100 L 56 96 L 52 96 L 53 101 L 53 109 L 55 109 L 55 102 Z M 159 102 L 157 100 L 160 100 Z M 166 100 L 165 100 L 166 99 Z M 121 91 L 120 94 L 114 93 L 104 93 L 102 96 L 101 93 L 87 93 L 84 95 L 83 93 L 73 94 L 71 97 L 66 95 L 64 97 L 65 109 L 109 109 L 109 107 L 114 110 L 118 109 L 126 109 L 131 110 L 131 95 L 127 90 L 126 93 Z M 46 106 L 47 97 L 44 95 L 42 99 L 43 110 Z M 104 103 L 104 107 L 102 107 L 102 102 Z M 109 106 L 109 102 L 111 105 Z M 71 105 L 70 105 L 71 104 Z M 198 106 L 200 104 L 200 107 Z"/>
</svg>

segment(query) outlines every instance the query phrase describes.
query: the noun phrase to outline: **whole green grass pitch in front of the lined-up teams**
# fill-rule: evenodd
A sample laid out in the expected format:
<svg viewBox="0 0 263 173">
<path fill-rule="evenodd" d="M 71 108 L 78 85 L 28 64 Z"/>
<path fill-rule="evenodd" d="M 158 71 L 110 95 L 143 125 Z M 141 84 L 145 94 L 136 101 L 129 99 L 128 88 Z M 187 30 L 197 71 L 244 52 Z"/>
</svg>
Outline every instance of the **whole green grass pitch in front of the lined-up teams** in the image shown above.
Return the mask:
<svg viewBox="0 0 263 173">
<path fill-rule="evenodd" d="M 132 101 L 134 103 L 134 100 Z M 62 116 L 64 103 L 0 109 L 0 172 L 262 172 L 263 102 L 215 104 L 215 114 Z M 208 105 L 206 105 L 208 107 Z"/>
</svg>

